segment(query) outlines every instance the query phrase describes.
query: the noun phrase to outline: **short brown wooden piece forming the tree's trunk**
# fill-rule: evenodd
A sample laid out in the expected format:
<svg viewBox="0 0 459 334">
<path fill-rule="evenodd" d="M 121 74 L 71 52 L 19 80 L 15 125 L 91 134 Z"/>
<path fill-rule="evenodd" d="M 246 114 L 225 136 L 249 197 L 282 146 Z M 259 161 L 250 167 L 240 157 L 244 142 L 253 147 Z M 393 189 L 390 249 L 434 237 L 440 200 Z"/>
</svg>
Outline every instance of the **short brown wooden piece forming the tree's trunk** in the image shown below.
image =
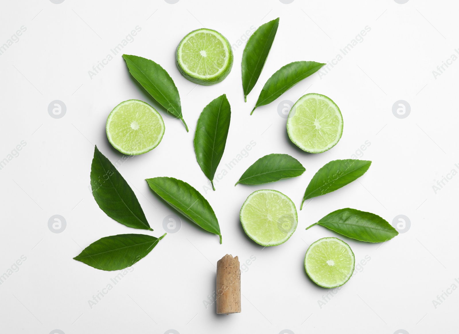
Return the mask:
<svg viewBox="0 0 459 334">
<path fill-rule="evenodd" d="M 241 269 L 237 256 L 217 262 L 217 314 L 241 312 Z"/>
</svg>

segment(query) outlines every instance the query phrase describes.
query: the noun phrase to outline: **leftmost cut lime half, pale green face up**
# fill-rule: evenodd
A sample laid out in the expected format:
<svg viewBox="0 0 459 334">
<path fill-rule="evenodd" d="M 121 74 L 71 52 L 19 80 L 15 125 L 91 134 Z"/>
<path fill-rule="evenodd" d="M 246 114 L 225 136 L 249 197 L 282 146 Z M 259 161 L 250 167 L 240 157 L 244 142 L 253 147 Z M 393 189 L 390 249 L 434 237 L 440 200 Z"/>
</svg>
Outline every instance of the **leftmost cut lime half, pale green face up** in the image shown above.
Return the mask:
<svg viewBox="0 0 459 334">
<path fill-rule="evenodd" d="M 116 106 L 107 118 L 108 141 L 123 154 L 134 156 L 153 150 L 164 135 L 161 115 L 140 100 Z"/>
</svg>

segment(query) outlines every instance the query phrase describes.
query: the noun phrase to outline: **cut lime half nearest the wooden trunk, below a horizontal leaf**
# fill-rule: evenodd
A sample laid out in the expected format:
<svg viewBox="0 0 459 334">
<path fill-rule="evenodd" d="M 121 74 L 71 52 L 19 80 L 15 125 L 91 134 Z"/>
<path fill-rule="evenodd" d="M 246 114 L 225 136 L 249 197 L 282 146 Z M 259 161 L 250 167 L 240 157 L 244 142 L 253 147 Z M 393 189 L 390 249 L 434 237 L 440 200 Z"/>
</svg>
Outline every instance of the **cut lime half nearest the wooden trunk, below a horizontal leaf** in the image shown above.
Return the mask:
<svg viewBox="0 0 459 334">
<path fill-rule="evenodd" d="M 246 234 L 262 246 L 287 241 L 297 228 L 298 216 L 290 198 L 276 190 L 257 190 L 241 207 L 241 223 Z"/>
</svg>

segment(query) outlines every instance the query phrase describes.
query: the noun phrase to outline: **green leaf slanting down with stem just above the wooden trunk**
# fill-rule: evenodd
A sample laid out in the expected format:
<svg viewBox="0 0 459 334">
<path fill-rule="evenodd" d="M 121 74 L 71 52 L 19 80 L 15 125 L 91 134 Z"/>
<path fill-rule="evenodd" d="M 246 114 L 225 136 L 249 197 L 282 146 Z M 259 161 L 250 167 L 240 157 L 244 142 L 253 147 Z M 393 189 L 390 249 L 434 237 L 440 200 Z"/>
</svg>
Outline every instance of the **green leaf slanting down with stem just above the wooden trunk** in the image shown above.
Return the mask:
<svg viewBox="0 0 459 334">
<path fill-rule="evenodd" d="M 190 184 L 176 178 L 147 178 L 150 188 L 174 209 L 206 231 L 217 234 L 222 243 L 222 234 L 217 217 L 209 202 Z"/>
</svg>

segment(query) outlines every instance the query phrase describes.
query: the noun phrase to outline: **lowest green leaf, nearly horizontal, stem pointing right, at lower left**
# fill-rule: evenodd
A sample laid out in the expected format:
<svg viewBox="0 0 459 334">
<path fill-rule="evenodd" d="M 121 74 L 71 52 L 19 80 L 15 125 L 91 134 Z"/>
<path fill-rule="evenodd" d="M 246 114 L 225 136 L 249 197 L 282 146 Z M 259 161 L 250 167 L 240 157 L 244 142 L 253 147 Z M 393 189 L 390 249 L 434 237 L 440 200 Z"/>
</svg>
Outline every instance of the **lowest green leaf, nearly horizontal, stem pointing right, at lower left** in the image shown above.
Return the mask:
<svg viewBox="0 0 459 334">
<path fill-rule="evenodd" d="M 100 270 L 119 270 L 132 266 L 157 245 L 159 238 L 145 234 L 118 234 L 101 238 L 86 247 L 73 260 Z"/>
</svg>

